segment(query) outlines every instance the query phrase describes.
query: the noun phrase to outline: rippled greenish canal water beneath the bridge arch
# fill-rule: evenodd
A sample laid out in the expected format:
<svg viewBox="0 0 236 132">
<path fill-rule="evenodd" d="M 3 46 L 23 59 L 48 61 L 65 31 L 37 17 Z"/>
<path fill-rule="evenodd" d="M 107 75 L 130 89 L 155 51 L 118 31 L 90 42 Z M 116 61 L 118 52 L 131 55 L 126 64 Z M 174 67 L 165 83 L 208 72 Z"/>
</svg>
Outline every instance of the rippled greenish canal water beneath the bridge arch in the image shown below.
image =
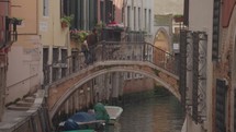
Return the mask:
<svg viewBox="0 0 236 132">
<path fill-rule="evenodd" d="M 124 97 L 120 132 L 180 132 L 184 113 L 168 93 L 147 92 Z"/>
</svg>

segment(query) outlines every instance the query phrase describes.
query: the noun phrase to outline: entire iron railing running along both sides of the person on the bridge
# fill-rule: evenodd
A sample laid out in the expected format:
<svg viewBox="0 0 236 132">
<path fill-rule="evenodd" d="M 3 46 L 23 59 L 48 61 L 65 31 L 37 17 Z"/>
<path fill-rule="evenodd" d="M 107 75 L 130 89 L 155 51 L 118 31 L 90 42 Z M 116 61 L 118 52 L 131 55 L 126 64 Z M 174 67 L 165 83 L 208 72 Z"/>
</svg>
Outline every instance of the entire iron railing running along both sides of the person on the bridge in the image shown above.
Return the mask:
<svg viewBox="0 0 236 132">
<path fill-rule="evenodd" d="M 166 52 L 148 43 L 132 41 L 100 41 L 94 49 L 97 61 L 147 61 L 170 73 L 177 74 L 178 62 L 169 52 Z M 90 64 L 92 64 L 90 63 Z M 72 52 L 59 61 L 44 65 L 44 85 L 47 86 L 60 79 L 86 69 L 82 52 Z"/>
</svg>

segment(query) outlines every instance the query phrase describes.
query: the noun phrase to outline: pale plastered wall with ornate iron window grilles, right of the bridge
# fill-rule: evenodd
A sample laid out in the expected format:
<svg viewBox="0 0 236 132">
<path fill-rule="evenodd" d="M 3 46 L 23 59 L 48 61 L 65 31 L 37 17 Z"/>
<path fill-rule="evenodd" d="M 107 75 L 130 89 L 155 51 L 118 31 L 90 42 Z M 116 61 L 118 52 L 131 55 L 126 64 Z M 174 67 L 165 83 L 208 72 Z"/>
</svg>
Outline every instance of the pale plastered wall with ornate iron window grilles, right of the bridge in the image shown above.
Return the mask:
<svg viewBox="0 0 236 132">
<path fill-rule="evenodd" d="M 201 10 L 199 9 L 201 7 Z M 181 38 L 188 47 L 187 56 L 187 95 L 184 103 L 187 117 L 183 129 L 192 132 L 212 131 L 213 110 L 213 0 L 184 1 L 184 21 L 187 33 Z M 188 22 L 188 23 L 186 23 Z M 186 37 L 184 37 L 186 36 Z M 191 47 L 191 48 L 190 48 Z M 181 47 L 180 47 L 181 50 Z M 201 56 L 201 58 L 200 58 Z M 196 59 L 200 58 L 200 59 Z M 206 73 L 207 71 L 207 73 Z M 181 73 L 180 73 L 181 74 Z M 198 75 L 196 75 L 198 74 Z"/>
</svg>

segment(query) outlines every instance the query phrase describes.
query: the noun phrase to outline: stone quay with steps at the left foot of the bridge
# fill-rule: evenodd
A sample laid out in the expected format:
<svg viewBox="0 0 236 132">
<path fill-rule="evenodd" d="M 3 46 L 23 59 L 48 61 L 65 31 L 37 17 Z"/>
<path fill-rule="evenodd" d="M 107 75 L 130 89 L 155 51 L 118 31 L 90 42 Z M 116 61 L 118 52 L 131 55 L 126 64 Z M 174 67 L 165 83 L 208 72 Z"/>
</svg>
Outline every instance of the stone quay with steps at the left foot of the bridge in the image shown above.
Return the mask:
<svg viewBox="0 0 236 132">
<path fill-rule="evenodd" d="M 45 91 L 38 89 L 34 96 L 26 96 L 18 104 L 8 106 L 0 132 L 49 132 L 50 123 L 45 104 Z"/>
</svg>

